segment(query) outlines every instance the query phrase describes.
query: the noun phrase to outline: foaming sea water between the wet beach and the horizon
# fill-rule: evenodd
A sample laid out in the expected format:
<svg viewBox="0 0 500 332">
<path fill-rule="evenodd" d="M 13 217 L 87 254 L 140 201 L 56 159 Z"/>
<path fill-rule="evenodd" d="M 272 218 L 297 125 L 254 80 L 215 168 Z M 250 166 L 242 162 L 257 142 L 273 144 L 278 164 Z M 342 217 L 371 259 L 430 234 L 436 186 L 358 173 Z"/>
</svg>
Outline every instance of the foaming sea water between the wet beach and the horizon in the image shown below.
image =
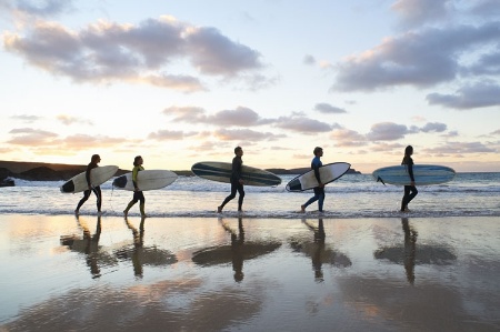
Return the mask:
<svg viewBox="0 0 500 332">
<path fill-rule="evenodd" d="M 281 175 L 277 187 L 244 187 L 246 218 L 317 218 L 313 203 L 304 215 L 300 211 L 312 191 L 288 192 L 286 184 L 296 175 Z M 102 211 L 106 215 L 122 215 L 132 192 L 112 187 L 112 180 L 101 185 Z M 73 213 L 82 193 L 61 193 L 63 181 L 24 181 L 14 179 L 16 187 L 0 188 L 0 213 L 68 214 Z M 418 187 L 419 194 L 409 204 L 409 217 L 499 217 L 500 172 L 457 173 L 444 184 Z M 149 217 L 214 217 L 217 207 L 229 194 L 230 184 L 198 177 L 179 177 L 161 190 L 146 191 L 146 212 Z M 403 188 L 384 185 L 371 174 L 346 174 L 326 187 L 324 218 L 387 218 L 399 212 Z M 222 215 L 238 215 L 236 199 Z M 80 209 L 81 214 L 96 214 L 92 193 Z M 139 215 L 139 204 L 130 210 Z"/>
</svg>

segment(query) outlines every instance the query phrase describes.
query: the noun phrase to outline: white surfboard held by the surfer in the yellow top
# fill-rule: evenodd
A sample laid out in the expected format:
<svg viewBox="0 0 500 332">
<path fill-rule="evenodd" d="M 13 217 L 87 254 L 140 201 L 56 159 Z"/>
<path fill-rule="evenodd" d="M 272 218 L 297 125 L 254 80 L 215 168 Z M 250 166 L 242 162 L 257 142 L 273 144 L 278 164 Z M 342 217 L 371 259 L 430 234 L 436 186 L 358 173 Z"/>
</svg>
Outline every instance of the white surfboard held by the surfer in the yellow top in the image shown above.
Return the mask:
<svg viewBox="0 0 500 332">
<path fill-rule="evenodd" d="M 167 170 L 144 170 L 137 174 L 139 190 L 156 190 L 167 187 L 177 180 L 177 174 Z M 113 187 L 133 191 L 132 172 L 118 177 Z"/>
</svg>

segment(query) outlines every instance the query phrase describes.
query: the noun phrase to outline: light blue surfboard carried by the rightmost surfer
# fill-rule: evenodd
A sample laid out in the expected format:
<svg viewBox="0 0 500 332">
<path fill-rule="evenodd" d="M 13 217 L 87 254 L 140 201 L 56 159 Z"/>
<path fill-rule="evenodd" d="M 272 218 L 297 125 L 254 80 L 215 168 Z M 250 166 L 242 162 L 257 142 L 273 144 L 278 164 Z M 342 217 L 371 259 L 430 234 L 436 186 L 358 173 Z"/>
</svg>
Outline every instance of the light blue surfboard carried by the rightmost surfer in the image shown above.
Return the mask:
<svg viewBox="0 0 500 332">
<path fill-rule="evenodd" d="M 376 170 L 372 173 L 377 181 L 396 185 L 410 185 L 410 175 L 404 165 L 393 165 Z M 451 181 L 453 169 L 434 164 L 414 164 L 413 177 L 416 185 L 439 184 Z"/>
</svg>

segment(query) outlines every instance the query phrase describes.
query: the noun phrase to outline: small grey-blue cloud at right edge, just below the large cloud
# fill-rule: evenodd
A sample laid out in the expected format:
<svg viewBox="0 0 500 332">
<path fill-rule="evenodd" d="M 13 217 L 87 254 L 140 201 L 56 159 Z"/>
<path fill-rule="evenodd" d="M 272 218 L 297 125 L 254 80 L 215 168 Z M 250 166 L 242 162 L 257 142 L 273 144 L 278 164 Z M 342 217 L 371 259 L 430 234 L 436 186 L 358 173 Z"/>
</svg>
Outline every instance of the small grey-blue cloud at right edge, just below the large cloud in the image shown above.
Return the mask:
<svg viewBox="0 0 500 332">
<path fill-rule="evenodd" d="M 500 85 L 491 82 L 480 82 L 466 85 L 454 94 L 430 93 L 429 104 L 438 104 L 457 110 L 469 110 L 500 105 Z"/>
</svg>

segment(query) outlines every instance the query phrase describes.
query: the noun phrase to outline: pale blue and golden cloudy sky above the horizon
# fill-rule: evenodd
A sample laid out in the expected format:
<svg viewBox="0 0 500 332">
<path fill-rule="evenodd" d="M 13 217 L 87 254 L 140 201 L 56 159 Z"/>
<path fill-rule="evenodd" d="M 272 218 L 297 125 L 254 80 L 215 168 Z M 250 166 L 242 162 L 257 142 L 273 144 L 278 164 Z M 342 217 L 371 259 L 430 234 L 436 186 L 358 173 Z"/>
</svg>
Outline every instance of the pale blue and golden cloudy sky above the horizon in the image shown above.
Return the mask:
<svg viewBox="0 0 500 332">
<path fill-rule="evenodd" d="M 0 159 L 500 171 L 498 0 L 0 0 Z"/>
</svg>

